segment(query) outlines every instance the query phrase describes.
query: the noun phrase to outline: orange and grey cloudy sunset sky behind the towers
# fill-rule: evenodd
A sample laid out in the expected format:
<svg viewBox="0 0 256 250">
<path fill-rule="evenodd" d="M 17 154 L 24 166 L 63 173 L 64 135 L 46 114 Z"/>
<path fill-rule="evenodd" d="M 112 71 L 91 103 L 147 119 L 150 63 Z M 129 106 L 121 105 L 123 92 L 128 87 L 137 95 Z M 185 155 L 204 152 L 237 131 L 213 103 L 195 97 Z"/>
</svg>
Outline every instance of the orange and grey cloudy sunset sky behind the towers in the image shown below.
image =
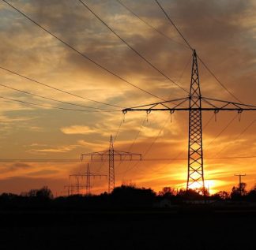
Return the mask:
<svg viewBox="0 0 256 250">
<path fill-rule="evenodd" d="M 189 91 L 191 50 L 187 49 L 155 1 L 121 2 L 166 36 L 147 26 L 116 0 L 84 2 L 157 69 Z M 186 91 L 122 43 L 78 0 L 9 3 L 88 58 L 137 87 L 161 99 L 187 96 Z M 241 103 L 256 105 L 256 2 L 160 0 L 160 4 L 221 83 Z M 0 69 L 1 96 L 9 98 L 0 99 L 0 192 L 21 193 L 47 185 L 55 195 L 63 195 L 69 175 L 85 171 L 87 162 L 46 160 L 80 159 L 83 153 L 107 150 L 111 134 L 116 137 L 116 150 L 141 153 L 145 159 L 172 159 L 115 162 L 116 185 L 133 183 L 155 191 L 165 186 L 186 186 L 187 112 L 175 112 L 170 121 L 168 112 L 152 112 L 147 118 L 145 112 L 128 112 L 123 117 L 121 111 L 80 112 L 46 107 L 85 110 L 81 106 L 92 106 L 120 110 L 87 99 L 120 107 L 156 103 L 160 99 L 100 69 L 5 2 L 0 2 L 0 18 L 0 67 L 85 97 L 68 95 Z M 202 95 L 236 101 L 200 62 L 198 67 Z M 27 95 L 3 85 L 81 106 Z M 31 106 L 10 99 L 46 106 Z M 255 118 L 254 111 L 243 112 L 240 121 L 235 112 L 221 111 L 216 118 L 213 112 L 203 112 L 205 183 L 210 192 L 230 191 L 238 182 L 234 174 L 240 173 L 247 174 L 243 181 L 248 189 L 254 186 L 256 158 L 234 157 L 256 155 Z M 45 161 L 5 162 L 4 159 Z M 108 173 L 107 162 L 89 164 L 94 173 Z M 105 177 L 92 178 L 91 184 L 93 193 L 107 191 Z"/>
</svg>

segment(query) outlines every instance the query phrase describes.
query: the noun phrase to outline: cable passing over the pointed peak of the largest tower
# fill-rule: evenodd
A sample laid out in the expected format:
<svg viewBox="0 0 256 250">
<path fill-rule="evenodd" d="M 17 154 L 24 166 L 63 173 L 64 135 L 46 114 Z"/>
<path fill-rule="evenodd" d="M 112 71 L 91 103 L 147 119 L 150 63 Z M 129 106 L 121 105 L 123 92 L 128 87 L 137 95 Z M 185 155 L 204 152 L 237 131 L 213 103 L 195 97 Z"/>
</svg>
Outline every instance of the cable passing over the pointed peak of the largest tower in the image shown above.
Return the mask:
<svg viewBox="0 0 256 250">
<path fill-rule="evenodd" d="M 171 20 L 171 17 L 169 17 L 168 13 L 166 13 L 166 11 L 164 10 L 163 6 L 160 5 L 160 2 L 158 0 L 155 0 L 157 6 L 160 7 L 160 9 L 163 11 L 165 17 L 168 18 L 168 21 L 171 22 L 171 24 L 174 26 L 175 30 L 179 33 L 179 35 L 181 35 L 181 37 L 183 38 L 183 40 L 185 41 L 185 43 L 187 44 L 188 47 L 190 47 L 190 50 L 194 50 L 193 47 L 190 45 L 190 43 L 187 41 L 187 39 L 184 37 L 184 35 L 182 34 L 182 32 L 179 31 L 179 28 L 175 25 L 175 23 Z M 224 88 L 225 91 L 227 91 L 230 95 L 232 95 L 232 97 L 234 99 L 236 99 L 237 101 L 239 101 L 239 103 L 242 103 L 234 94 L 232 94 L 231 91 L 228 90 L 228 88 L 226 88 L 224 86 L 223 83 L 221 83 L 220 79 L 218 79 L 216 77 L 216 75 L 213 73 L 212 70 L 209 69 L 209 67 L 205 64 L 205 62 L 202 61 L 202 59 L 198 56 L 198 59 L 200 60 L 200 62 L 202 63 L 202 65 L 205 66 L 205 69 L 207 69 L 209 71 L 209 73 L 213 76 L 213 78 L 217 81 L 218 84 L 220 84 L 220 86 L 222 88 Z"/>
</svg>

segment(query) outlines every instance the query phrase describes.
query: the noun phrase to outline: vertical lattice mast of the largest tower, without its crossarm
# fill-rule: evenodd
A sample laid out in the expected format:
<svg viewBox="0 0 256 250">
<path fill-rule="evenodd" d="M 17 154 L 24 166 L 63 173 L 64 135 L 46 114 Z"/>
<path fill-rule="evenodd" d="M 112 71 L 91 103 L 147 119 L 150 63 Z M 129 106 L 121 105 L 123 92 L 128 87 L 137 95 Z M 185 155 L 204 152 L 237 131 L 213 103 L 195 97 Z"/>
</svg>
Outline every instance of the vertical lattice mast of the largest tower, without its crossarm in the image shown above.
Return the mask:
<svg viewBox="0 0 256 250">
<path fill-rule="evenodd" d="M 195 182 L 205 188 L 201 132 L 201 90 L 197 53 L 194 50 L 190 81 L 189 144 L 186 188 Z"/>
</svg>

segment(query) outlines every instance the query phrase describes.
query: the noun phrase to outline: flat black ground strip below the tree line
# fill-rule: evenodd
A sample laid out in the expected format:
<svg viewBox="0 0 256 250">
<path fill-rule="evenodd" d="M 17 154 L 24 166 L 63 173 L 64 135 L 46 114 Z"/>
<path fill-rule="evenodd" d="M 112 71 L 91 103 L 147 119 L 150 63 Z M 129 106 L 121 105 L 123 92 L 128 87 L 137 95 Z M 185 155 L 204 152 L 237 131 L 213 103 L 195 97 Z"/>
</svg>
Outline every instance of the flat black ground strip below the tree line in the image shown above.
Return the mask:
<svg viewBox="0 0 256 250">
<path fill-rule="evenodd" d="M 256 249 L 256 211 L 2 211 L 0 249 Z"/>
</svg>

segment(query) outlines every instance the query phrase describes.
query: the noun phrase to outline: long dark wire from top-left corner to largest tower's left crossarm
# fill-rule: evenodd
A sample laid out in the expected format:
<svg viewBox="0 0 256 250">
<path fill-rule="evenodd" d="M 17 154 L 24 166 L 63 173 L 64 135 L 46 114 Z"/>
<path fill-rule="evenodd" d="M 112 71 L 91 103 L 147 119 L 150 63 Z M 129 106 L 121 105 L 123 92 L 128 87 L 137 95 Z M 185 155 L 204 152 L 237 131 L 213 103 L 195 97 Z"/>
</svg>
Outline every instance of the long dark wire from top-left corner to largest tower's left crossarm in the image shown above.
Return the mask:
<svg viewBox="0 0 256 250">
<path fill-rule="evenodd" d="M 36 24 L 36 26 L 40 27 L 41 29 L 43 29 L 44 32 L 47 32 L 48 34 L 50 34 L 51 36 L 55 37 L 55 39 L 58 39 L 59 42 L 63 43 L 66 47 L 69 47 L 71 50 L 77 52 L 77 54 L 80 54 L 83 58 L 87 59 L 88 61 L 92 62 L 93 64 L 97 65 L 98 67 L 100 67 L 100 69 L 104 69 L 107 73 L 110 73 L 111 75 L 117 77 L 119 80 L 124 81 L 126 84 L 130 84 L 131 86 L 133 86 L 134 88 L 137 88 L 149 95 L 152 95 L 153 97 L 156 97 L 157 99 L 161 99 L 159 96 L 152 94 L 149 91 L 145 91 L 144 89 L 138 87 L 135 84 L 132 84 L 130 81 L 125 80 L 124 78 L 122 78 L 122 76 L 119 76 L 117 73 L 112 72 L 110 69 L 107 69 L 105 66 L 100 65 L 100 63 L 92 60 L 92 58 L 89 58 L 86 54 L 81 53 L 81 51 L 77 50 L 76 48 L 72 47 L 70 45 L 70 43 L 66 43 L 64 40 L 60 39 L 57 35 L 55 35 L 54 33 L 50 32 L 49 30 L 47 30 L 47 28 L 43 28 L 42 25 L 38 24 L 36 21 L 32 20 L 32 18 L 28 17 L 25 13 L 21 12 L 20 9 L 17 9 L 16 7 L 14 7 L 13 5 L 11 5 L 9 2 L 7 2 L 6 0 L 2 0 L 3 2 L 6 2 L 6 4 L 8 4 L 11 8 L 15 9 L 18 13 L 20 13 L 22 16 L 26 17 L 29 21 L 32 21 L 33 24 Z M 161 99 L 164 100 L 164 99 Z"/>
</svg>

